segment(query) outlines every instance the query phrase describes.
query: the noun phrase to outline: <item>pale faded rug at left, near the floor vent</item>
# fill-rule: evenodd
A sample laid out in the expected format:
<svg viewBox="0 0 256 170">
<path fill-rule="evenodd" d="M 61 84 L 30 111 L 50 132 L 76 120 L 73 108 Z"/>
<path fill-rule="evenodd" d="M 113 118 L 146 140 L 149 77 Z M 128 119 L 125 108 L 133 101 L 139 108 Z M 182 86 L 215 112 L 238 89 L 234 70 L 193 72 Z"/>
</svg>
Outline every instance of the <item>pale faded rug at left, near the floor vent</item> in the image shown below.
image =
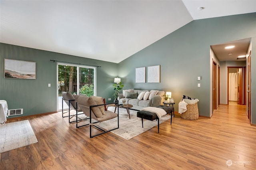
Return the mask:
<svg viewBox="0 0 256 170">
<path fill-rule="evenodd" d="M 28 120 L 0 125 L 0 153 L 37 142 Z"/>
</svg>

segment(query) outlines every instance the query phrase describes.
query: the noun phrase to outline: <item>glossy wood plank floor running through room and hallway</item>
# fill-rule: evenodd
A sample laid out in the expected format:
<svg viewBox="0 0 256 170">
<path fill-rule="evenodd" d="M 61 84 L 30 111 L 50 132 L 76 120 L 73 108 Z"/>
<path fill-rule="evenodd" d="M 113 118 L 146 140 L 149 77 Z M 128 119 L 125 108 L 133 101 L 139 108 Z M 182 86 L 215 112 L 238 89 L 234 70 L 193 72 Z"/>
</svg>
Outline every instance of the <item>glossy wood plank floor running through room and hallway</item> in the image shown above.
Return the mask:
<svg viewBox="0 0 256 170">
<path fill-rule="evenodd" d="M 159 134 L 154 127 L 130 140 L 111 132 L 90 138 L 89 127 L 76 129 L 61 113 L 30 117 L 38 143 L 0 154 L 0 169 L 255 170 L 256 127 L 245 110 L 220 105 L 211 119 L 196 121 L 177 113 Z"/>
</svg>

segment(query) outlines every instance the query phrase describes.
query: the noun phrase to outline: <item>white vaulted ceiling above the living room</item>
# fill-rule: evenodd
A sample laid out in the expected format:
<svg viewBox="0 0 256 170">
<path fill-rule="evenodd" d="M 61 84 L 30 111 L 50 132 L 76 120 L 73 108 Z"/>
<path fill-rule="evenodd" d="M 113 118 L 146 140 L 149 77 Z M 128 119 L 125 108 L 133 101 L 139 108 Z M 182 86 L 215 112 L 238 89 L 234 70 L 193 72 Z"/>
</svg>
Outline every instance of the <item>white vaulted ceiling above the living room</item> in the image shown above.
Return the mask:
<svg viewBox="0 0 256 170">
<path fill-rule="evenodd" d="M 256 0 L 1 0 L 0 42 L 119 63 L 192 20 L 251 12 Z"/>
</svg>

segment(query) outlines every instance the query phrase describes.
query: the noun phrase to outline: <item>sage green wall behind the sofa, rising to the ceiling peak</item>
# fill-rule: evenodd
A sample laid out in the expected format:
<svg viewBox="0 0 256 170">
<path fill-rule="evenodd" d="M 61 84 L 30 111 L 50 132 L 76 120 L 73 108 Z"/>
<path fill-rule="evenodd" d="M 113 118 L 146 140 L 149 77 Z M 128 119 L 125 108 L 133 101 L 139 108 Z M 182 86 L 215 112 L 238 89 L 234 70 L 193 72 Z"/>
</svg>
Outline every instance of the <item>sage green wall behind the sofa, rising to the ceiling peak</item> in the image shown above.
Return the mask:
<svg viewBox="0 0 256 170">
<path fill-rule="evenodd" d="M 252 87 L 256 79 L 256 13 L 194 20 L 118 64 L 126 89 L 171 91 L 176 102 L 182 95 L 198 98 L 201 116 L 210 117 L 210 45 L 252 38 Z M 135 83 L 135 68 L 160 65 L 160 83 Z M 147 73 L 147 68 L 146 68 Z M 197 77 L 201 76 L 198 81 Z M 201 83 L 201 87 L 197 84 Z M 252 89 L 252 102 L 256 86 Z M 253 103 L 252 103 L 253 105 Z M 256 124 L 256 107 L 252 108 Z"/>
</svg>

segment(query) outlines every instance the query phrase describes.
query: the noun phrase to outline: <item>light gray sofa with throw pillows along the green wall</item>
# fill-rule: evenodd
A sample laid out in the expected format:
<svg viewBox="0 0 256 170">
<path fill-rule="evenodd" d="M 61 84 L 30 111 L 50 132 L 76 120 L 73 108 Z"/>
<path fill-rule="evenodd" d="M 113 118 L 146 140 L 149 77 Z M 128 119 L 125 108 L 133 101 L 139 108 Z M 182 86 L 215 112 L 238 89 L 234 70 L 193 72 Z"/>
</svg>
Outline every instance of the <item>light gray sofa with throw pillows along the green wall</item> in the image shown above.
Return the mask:
<svg viewBox="0 0 256 170">
<path fill-rule="evenodd" d="M 155 106 L 163 105 L 164 93 L 165 93 L 164 91 L 157 91 L 156 95 L 153 95 L 153 96 L 151 95 L 151 97 L 147 100 L 137 98 L 138 95 L 140 95 L 140 93 L 146 92 L 146 91 L 150 92 L 153 90 L 136 90 L 136 89 L 123 90 L 123 93 L 119 94 L 119 97 L 118 97 L 119 104 L 123 104 L 123 99 L 125 99 L 126 104 L 133 105 L 131 109 L 139 110 L 139 111 L 145 107 L 149 107 L 149 106 L 155 107 Z"/>
</svg>

